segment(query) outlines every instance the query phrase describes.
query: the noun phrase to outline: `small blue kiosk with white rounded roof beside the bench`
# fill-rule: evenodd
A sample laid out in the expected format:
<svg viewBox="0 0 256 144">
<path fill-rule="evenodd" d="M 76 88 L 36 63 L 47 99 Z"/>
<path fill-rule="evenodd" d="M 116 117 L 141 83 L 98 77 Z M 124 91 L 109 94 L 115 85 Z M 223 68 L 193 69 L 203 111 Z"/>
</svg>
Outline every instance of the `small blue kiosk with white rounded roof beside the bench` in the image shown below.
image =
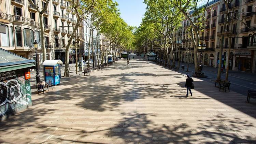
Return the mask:
<svg viewBox="0 0 256 144">
<path fill-rule="evenodd" d="M 45 82 L 51 83 L 55 86 L 60 83 L 60 64 L 63 64 L 61 60 L 45 60 L 44 66 L 44 80 Z"/>
</svg>

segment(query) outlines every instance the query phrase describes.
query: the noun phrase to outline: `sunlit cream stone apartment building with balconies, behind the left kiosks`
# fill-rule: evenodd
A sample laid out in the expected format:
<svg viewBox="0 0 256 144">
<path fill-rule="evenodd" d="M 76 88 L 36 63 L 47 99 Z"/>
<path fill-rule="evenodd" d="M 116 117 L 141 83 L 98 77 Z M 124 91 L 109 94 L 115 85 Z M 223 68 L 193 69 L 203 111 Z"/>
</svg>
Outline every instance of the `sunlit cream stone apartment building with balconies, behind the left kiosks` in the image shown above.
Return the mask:
<svg viewBox="0 0 256 144">
<path fill-rule="evenodd" d="M 38 4 L 40 9 L 46 5 L 46 0 L 39 3 L 37 0 L 32 1 Z M 65 46 L 76 24 L 75 12 L 69 6 L 69 2 L 65 0 L 50 0 L 47 10 L 43 13 L 47 59 L 60 59 L 65 62 Z M 28 59 L 35 59 L 33 42 L 37 40 L 38 61 L 41 68 L 43 61 L 39 14 L 28 0 L 0 1 L 0 30 L 0 46 Z M 82 37 L 79 30 L 76 36 Z M 75 39 L 72 41 L 74 42 Z M 71 57 L 70 61 L 72 61 Z"/>
</svg>

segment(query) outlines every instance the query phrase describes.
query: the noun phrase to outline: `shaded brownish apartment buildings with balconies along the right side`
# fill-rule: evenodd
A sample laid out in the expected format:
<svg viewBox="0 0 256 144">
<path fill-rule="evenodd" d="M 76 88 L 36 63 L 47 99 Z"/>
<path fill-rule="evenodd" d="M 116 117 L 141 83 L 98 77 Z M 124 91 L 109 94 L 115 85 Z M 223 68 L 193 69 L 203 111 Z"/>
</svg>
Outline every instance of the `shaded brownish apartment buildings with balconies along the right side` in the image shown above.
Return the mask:
<svg viewBox="0 0 256 144">
<path fill-rule="evenodd" d="M 226 69 L 227 67 L 226 60 L 228 59 L 228 49 L 230 47 L 229 69 L 252 73 L 256 72 L 256 35 L 241 22 L 241 20 L 243 20 L 248 27 L 256 32 L 255 15 L 251 13 L 236 13 L 255 12 L 255 5 L 256 1 L 253 0 L 232 1 L 229 5 L 230 15 L 228 17 L 226 31 L 222 32 L 225 21 L 225 4 L 221 0 L 213 0 L 208 3 L 207 9 L 205 10 L 206 21 L 204 30 L 199 31 L 200 43 L 206 45 L 202 58 L 202 64 L 204 66 L 218 67 L 219 45 L 221 37 L 224 35 L 224 49 L 222 54 L 223 68 Z M 193 19 L 192 13 L 193 12 L 190 12 L 190 16 Z M 175 32 L 175 50 L 177 53 L 177 47 L 179 46 L 181 48 L 181 61 L 194 63 L 194 49 L 191 46 L 187 35 L 188 32 L 186 31 L 189 25 L 188 19 L 184 19 L 182 21 L 182 28 L 179 28 Z M 180 38 L 182 38 L 181 42 Z M 185 52 L 185 48 L 190 48 L 190 55 Z M 175 60 L 177 60 L 177 58 L 176 56 Z"/>
</svg>

